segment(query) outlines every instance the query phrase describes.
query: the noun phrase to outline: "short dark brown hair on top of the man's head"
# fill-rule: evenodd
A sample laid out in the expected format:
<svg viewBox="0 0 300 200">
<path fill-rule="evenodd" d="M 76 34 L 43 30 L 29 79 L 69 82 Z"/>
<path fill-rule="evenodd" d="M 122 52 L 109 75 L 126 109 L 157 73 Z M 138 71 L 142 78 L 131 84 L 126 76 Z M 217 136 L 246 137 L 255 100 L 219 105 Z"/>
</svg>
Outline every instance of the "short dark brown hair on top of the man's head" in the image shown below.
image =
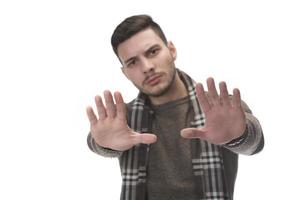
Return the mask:
<svg viewBox="0 0 300 200">
<path fill-rule="evenodd" d="M 115 54 L 118 56 L 118 46 L 122 42 L 147 28 L 154 30 L 164 43 L 167 44 L 167 38 L 162 29 L 149 15 L 134 15 L 121 22 L 111 36 L 111 45 Z"/>
</svg>

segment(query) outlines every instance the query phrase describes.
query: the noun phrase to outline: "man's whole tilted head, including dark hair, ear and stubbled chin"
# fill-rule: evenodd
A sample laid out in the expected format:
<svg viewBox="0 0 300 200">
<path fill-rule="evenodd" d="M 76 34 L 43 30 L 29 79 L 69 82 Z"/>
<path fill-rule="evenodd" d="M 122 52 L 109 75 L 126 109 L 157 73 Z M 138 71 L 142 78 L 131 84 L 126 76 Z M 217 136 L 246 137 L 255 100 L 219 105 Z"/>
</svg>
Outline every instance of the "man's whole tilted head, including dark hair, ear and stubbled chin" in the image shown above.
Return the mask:
<svg viewBox="0 0 300 200">
<path fill-rule="evenodd" d="M 176 48 L 151 17 L 125 19 L 112 35 L 112 46 L 124 75 L 151 100 L 169 99 L 178 90 Z"/>
</svg>

